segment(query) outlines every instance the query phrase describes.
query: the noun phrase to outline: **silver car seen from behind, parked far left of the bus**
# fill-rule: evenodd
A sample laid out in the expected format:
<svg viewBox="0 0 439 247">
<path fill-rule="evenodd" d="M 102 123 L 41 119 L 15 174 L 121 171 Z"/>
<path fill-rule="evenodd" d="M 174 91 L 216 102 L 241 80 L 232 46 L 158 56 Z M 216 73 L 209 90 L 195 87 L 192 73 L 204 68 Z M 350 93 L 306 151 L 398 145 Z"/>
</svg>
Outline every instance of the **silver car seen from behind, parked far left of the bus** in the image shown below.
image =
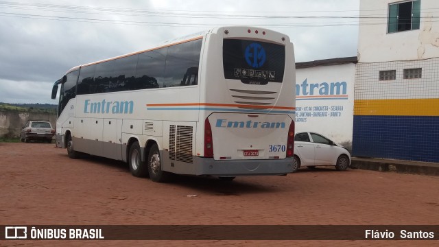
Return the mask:
<svg viewBox="0 0 439 247">
<path fill-rule="evenodd" d="M 38 140 L 51 143 L 54 135 L 55 130 L 49 121 L 29 120 L 20 132 L 20 139 L 22 142 Z"/>
</svg>

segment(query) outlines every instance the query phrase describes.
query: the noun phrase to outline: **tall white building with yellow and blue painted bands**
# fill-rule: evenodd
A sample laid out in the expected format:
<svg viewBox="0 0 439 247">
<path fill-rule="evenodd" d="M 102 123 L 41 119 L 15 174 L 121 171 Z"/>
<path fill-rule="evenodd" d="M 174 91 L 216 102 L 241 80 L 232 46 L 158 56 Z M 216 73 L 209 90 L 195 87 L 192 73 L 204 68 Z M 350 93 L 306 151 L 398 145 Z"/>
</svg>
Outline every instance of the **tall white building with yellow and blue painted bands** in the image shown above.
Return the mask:
<svg viewBox="0 0 439 247">
<path fill-rule="evenodd" d="M 438 12 L 360 0 L 353 155 L 439 162 Z"/>
</svg>

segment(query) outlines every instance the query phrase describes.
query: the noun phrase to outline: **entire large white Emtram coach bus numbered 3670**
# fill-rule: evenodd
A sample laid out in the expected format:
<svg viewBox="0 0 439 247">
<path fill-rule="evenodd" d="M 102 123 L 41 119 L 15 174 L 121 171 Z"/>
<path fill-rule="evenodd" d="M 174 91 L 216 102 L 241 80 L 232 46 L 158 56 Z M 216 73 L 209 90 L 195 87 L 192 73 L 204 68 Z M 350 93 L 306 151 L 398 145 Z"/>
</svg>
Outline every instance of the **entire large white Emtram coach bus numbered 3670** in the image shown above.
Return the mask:
<svg viewBox="0 0 439 247">
<path fill-rule="evenodd" d="M 61 85 L 56 145 L 155 182 L 290 173 L 294 64 L 285 34 L 219 27 L 73 67 L 52 90 Z"/>
</svg>

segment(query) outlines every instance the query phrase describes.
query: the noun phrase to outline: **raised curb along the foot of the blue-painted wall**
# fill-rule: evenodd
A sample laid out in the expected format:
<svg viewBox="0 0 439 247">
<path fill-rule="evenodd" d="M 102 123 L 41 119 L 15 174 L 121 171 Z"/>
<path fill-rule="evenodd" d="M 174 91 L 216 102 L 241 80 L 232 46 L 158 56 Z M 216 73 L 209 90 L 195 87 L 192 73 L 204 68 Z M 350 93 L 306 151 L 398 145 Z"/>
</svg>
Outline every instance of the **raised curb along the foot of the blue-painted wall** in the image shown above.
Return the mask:
<svg viewBox="0 0 439 247">
<path fill-rule="evenodd" d="M 380 172 L 401 172 L 405 174 L 439 176 L 439 163 L 352 157 L 351 167 Z"/>
</svg>

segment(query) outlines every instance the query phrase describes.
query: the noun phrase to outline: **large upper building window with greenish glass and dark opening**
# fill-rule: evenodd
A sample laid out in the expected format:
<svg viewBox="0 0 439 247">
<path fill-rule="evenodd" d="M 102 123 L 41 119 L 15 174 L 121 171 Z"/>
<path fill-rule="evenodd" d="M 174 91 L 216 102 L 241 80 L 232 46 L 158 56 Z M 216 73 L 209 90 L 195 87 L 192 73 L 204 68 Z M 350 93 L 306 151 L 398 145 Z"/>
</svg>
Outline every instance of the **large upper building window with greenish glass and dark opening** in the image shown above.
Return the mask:
<svg viewBox="0 0 439 247">
<path fill-rule="evenodd" d="M 389 5 L 388 33 L 419 29 L 420 0 Z"/>
</svg>

